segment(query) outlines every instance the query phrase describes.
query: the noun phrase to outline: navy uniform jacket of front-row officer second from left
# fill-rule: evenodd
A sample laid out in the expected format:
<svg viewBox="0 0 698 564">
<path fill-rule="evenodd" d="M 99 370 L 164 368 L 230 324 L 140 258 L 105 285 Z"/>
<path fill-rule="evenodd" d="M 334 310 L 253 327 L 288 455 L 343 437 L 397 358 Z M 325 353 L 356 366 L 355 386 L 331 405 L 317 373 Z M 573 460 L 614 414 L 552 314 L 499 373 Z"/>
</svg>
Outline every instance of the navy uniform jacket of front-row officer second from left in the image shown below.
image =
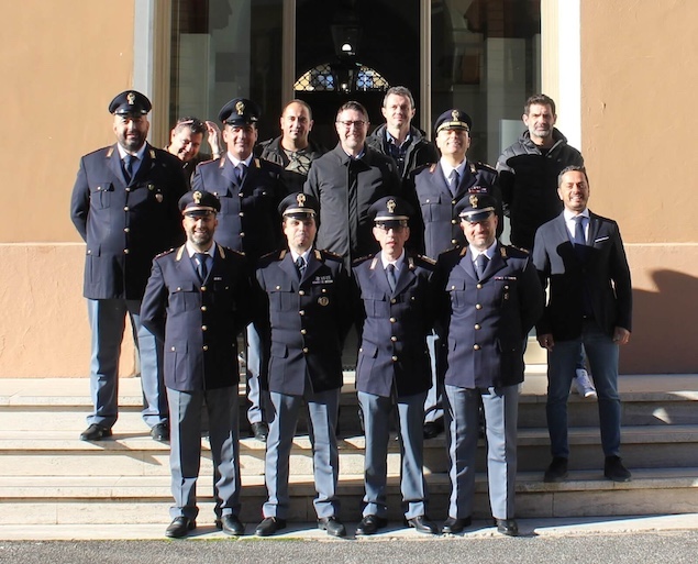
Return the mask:
<svg viewBox="0 0 698 564">
<path fill-rule="evenodd" d="M 315 392 L 340 388 L 342 346 L 352 322 L 342 257 L 312 250 L 299 280 L 291 253 L 277 251 L 259 259 L 256 275 L 259 311 L 268 312 L 272 331 L 269 390 L 302 396 L 306 375 Z"/>
</svg>

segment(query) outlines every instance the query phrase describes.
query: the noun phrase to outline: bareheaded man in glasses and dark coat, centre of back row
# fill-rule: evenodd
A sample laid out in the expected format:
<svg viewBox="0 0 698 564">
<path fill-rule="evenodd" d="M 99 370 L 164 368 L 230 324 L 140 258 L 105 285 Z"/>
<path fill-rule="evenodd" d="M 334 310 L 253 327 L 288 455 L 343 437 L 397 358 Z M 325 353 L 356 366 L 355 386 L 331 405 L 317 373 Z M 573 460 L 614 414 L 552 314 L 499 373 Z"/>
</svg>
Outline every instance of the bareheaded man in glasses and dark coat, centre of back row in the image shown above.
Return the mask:
<svg viewBox="0 0 698 564">
<path fill-rule="evenodd" d="M 337 145 L 313 161 L 303 187 L 320 202 L 318 246 L 352 261 L 379 250 L 368 208 L 385 196 L 401 193 L 392 158 L 366 145 L 368 112 L 350 101 L 337 113 Z"/>
</svg>

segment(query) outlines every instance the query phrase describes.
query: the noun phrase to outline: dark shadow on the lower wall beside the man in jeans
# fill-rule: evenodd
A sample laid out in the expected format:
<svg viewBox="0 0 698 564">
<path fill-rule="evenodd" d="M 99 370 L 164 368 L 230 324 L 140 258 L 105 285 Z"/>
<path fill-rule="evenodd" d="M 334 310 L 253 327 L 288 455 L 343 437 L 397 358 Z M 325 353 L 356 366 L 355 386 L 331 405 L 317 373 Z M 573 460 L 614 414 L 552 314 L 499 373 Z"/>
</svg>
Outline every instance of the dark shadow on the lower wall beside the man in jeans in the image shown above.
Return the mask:
<svg viewBox="0 0 698 564">
<path fill-rule="evenodd" d="M 698 373 L 698 278 L 652 274 L 657 291 L 633 290 L 633 332 L 621 349 L 622 374 Z"/>
</svg>

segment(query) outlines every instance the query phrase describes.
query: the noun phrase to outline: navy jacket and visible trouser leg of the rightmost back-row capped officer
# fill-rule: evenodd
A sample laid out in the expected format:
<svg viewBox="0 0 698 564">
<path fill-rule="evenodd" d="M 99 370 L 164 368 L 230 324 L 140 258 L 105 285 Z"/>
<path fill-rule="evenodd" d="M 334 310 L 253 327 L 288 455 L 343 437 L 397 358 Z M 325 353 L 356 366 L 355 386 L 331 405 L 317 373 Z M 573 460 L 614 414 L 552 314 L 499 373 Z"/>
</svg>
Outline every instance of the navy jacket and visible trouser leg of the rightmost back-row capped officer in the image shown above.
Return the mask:
<svg viewBox="0 0 698 564">
<path fill-rule="evenodd" d="M 418 224 L 412 229 L 417 248 L 426 256 L 437 258 L 439 255 L 456 245 L 465 246 L 465 235 L 461 230 L 458 218 L 454 218 L 455 204 L 468 193 L 489 193 L 501 202 L 501 191 L 494 168 L 481 163 L 468 162 L 465 173 L 455 190 L 451 192 L 443 168 L 433 164 L 419 168 L 413 175 L 414 197 L 421 214 Z M 502 213 L 498 210 L 499 229 L 503 228 Z M 428 340 L 432 360 L 432 387 L 424 405 L 425 421 L 435 421 L 443 417 L 442 396 L 443 379 L 439 377 L 437 354 L 439 338 L 433 334 Z"/>
</svg>

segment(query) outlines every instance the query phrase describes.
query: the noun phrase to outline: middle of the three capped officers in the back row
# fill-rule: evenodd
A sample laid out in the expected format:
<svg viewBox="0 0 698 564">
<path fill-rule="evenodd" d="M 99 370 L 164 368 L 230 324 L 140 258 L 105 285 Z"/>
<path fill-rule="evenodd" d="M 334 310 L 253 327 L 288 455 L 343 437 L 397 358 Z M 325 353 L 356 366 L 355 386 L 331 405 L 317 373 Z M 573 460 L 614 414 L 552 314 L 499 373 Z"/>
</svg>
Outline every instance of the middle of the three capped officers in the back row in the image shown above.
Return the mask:
<svg viewBox="0 0 698 564">
<path fill-rule="evenodd" d="M 218 241 L 245 253 L 251 267 L 282 243 L 277 206 L 287 195 L 280 180 L 282 168 L 255 158 L 259 108 L 252 100 L 235 98 L 219 112 L 228 152 L 218 161 L 200 164 L 191 179 L 195 190 L 209 191 L 221 200 Z M 247 420 L 253 435 L 267 439 L 264 410 L 267 398 L 259 380 L 263 343 L 254 325 L 247 328 Z"/>
</svg>

